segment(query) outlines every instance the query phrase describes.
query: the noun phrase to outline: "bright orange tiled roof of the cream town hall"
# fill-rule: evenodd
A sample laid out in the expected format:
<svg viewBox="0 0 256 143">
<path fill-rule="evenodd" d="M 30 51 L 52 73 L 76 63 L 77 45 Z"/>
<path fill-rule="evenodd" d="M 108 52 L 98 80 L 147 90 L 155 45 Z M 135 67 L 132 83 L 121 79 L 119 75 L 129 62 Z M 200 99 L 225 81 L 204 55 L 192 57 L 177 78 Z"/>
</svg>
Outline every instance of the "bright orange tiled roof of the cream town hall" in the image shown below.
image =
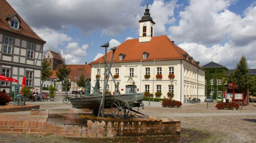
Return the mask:
<svg viewBox="0 0 256 143">
<path fill-rule="evenodd" d="M 143 59 L 143 53 L 149 53 L 147 59 Z M 107 62 L 109 62 L 113 51 L 107 53 Z M 123 60 L 119 60 L 119 54 L 126 54 Z M 173 44 L 166 35 L 152 37 L 150 42 L 139 42 L 139 39 L 126 40 L 120 44 L 115 51 L 113 63 L 120 62 L 138 62 L 142 61 L 153 61 L 155 60 L 179 60 L 185 59 L 182 54 L 188 54 L 177 45 Z M 99 59 L 91 62 L 90 64 L 104 63 L 103 55 Z M 188 54 L 188 57 L 191 57 Z M 191 63 L 195 66 L 197 64 L 193 60 Z M 198 67 L 198 66 L 197 66 Z M 202 68 L 201 68 L 202 69 Z"/>
</svg>

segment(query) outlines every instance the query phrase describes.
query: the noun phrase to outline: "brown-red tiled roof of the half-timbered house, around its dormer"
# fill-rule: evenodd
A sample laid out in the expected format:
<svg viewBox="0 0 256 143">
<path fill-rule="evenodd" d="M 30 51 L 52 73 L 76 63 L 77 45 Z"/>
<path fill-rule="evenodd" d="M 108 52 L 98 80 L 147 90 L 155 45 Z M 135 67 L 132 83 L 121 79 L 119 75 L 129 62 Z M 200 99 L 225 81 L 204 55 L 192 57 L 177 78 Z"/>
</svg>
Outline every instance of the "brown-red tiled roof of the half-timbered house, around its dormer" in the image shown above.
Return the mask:
<svg viewBox="0 0 256 143">
<path fill-rule="evenodd" d="M 8 23 L 8 18 L 11 15 L 17 14 L 21 23 L 19 30 L 15 30 L 10 28 Z M 26 36 L 28 38 L 36 39 L 40 42 L 46 43 L 43 39 L 41 39 L 29 26 L 28 24 L 20 17 L 20 15 L 9 5 L 6 0 L 0 0 L 0 29 L 12 32 L 14 34 Z"/>
</svg>

